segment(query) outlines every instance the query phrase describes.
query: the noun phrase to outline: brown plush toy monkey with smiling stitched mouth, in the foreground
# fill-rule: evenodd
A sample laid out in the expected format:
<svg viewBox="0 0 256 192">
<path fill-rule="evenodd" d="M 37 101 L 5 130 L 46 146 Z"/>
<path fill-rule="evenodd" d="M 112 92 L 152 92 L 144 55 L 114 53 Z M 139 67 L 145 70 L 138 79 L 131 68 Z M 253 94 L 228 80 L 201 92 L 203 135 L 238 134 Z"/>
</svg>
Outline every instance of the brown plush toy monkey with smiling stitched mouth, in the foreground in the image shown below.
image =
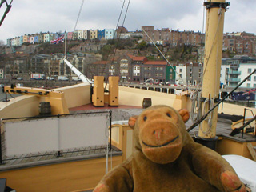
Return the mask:
<svg viewBox="0 0 256 192">
<path fill-rule="evenodd" d="M 134 153 L 106 174 L 94 192 L 240 191 L 246 187 L 219 154 L 186 132 L 187 110 L 151 106 L 129 119 Z"/>
</svg>

